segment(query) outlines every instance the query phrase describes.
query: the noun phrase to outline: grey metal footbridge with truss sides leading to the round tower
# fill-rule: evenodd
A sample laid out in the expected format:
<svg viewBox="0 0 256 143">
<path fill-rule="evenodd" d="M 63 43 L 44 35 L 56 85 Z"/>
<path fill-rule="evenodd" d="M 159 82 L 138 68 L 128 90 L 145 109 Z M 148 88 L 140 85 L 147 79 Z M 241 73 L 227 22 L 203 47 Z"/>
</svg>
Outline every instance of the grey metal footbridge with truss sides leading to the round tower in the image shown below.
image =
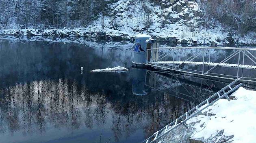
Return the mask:
<svg viewBox="0 0 256 143">
<path fill-rule="evenodd" d="M 156 69 L 256 82 L 256 77 L 252 77 L 256 74 L 256 48 L 205 46 L 148 48 L 146 59 L 148 60 L 144 65 Z"/>
</svg>

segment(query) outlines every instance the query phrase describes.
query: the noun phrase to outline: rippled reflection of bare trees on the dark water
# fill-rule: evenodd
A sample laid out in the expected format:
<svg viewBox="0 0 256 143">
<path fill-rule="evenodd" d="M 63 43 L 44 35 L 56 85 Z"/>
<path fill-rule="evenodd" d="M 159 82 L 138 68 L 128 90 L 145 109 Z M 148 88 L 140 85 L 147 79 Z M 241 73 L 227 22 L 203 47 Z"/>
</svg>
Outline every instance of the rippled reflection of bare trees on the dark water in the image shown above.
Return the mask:
<svg viewBox="0 0 256 143">
<path fill-rule="evenodd" d="M 127 96 L 124 90 L 115 90 L 118 95 Z M 156 95 L 154 98 L 134 96 L 133 100 L 126 101 L 113 100 L 110 92 L 92 93 L 86 84 L 78 86 L 75 80 L 62 79 L 2 88 L 0 132 L 14 134 L 16 130 L 23 130 L 27 136 L 47 132 L 47 124 L 67 130 L 111 126 L 118 141 L 140 127 L 147 137 L 194 106 L 168 94 L 157 95 L 156 91 L 152 93 Z M 106 120 L 112 123 L 106 125 Z"/>
</svg>

